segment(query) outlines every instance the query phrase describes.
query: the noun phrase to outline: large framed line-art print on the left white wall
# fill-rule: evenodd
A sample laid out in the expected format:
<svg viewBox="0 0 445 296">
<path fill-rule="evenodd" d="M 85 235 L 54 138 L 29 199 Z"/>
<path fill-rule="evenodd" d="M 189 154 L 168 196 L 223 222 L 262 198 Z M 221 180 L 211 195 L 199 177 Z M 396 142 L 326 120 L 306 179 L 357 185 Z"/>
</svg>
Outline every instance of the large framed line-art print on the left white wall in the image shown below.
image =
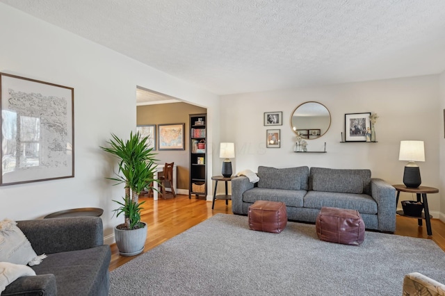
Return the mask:
<svg viewBox="0 0 445 296">
<path fill-rule="evenodd" d="M 74 177 L 74 88 L 0 73 L 0 185 Z"/>
</svg>

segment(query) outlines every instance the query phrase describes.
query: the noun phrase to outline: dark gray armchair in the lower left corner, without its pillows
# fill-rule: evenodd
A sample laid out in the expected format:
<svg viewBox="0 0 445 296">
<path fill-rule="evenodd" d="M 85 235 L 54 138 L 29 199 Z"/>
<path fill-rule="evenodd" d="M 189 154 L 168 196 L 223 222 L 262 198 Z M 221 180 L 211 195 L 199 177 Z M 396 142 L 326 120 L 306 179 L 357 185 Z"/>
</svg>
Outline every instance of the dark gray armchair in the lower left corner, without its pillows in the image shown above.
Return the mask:
<svg viewBox="0 0 445 296">
<path fill-rule="evenodd" d="M 111 250 L 99 217 L 17 221 L 37 254 L 36 276 L 20 277 L 6 295 L 108 295 Z"/>
</svg>

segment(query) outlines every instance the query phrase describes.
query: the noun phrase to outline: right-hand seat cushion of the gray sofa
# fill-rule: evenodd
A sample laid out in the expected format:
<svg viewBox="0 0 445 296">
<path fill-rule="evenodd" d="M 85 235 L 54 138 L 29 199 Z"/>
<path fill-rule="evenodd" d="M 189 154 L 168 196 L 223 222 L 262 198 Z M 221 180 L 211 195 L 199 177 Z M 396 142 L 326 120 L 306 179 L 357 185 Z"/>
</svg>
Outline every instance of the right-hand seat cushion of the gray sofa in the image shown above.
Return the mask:
<svg viewBox="0 0 445 296">
<path fill-rule="evenodd" d="M 377 203 L 369 195 L 354 193 L 338 193 L 323 191 L 308 191 L 303 199 L 305 208 L 348 208 L 362 214 L 377 214 Z"/>
</svg>

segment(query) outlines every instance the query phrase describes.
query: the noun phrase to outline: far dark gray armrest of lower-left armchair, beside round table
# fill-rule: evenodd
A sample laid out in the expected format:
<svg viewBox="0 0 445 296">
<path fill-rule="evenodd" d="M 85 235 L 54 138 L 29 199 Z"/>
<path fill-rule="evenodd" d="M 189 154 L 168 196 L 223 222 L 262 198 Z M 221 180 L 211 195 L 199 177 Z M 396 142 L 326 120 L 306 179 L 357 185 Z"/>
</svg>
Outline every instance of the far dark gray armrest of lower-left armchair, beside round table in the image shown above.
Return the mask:
<svg viewBox="0 0 445 296">
<path fill-rule="evenodd" d="M 52 254 L 104 245 L 100 217 L 66 217 L 17 221 L 35 253 Z"/>
</svg>

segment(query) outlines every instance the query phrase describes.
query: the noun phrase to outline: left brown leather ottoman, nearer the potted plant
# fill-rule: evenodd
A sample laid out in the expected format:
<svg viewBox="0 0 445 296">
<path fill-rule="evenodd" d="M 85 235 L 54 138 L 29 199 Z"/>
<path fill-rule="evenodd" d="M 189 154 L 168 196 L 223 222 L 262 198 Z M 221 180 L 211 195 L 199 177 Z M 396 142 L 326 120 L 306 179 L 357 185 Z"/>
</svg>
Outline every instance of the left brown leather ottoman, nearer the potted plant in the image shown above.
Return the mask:
<svg viewBox="0 0 445 296">
<path fill-rule="evenodd" d="M 287 224 L 284 202 L 257 200 L 249 206 L 249 228 L 257 231 L 280 233 Z"/>
</svg>

